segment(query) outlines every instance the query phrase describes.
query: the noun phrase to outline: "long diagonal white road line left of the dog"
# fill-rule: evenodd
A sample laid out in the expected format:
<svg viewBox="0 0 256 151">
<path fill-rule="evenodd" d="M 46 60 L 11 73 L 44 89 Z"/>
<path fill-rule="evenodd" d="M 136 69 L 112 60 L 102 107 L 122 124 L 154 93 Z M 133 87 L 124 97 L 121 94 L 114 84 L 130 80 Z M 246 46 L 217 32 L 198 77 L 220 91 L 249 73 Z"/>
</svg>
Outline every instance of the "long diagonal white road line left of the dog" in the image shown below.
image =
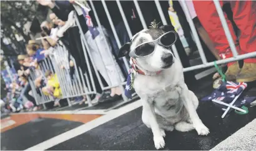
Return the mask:
<svg viewBox="0 0 256 151">
<path fill-rule="evenodd" d="M 76 127 L 75 129 L 64 132 L 63 134 L 57 135 L 56 137 L 52 137 L 51 139 L 41 142 L 40 144 L 34 145 L 33 147 L 30 147 L 29 149 L 26 149 L 26 150 L 49 149 L 51 147 L 54 147 L 57 144 L 65 142 L 66 140 L 72 139 L 72 138 L 77 137 L 78 135 L 81 135 L 91 129 L 94 129 L 95 127 L 97 127 L 99 125 L 109 122 L 112 119 L 116 119 L 117 117 L 119 117 L 123 114 L 126 114 L 127 112 L 130 112 L 131 110 L 137 109 L 141 105 L 142 105 L 142 103 L 140 102 L 140 100 L 137 100 L 137 101 L 132 102 L 131 104 L 121 107 L 117 110 L 111 110 L 111 111 L 107 112 L 106 115 L 103 115 L 102 117 L 92 120 L 91 122 L 87 122 L 86 124 Z"/>
</svg>

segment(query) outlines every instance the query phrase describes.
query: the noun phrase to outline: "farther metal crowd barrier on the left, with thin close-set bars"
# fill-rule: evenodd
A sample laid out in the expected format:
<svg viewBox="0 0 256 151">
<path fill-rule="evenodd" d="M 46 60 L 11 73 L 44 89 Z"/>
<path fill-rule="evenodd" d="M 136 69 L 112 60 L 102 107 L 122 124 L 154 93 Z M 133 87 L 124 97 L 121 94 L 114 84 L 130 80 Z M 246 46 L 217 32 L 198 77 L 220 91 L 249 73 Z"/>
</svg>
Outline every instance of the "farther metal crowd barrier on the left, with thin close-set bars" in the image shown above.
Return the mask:
<svg viewBox="0 0 256 151">
<path fill-rule="evenodd" d="M 74 75 L 73 79 L 69 74 L 69 59 L 68 59 L 68 51 L 65 46 L 57 45 L 49 57 L 46 57 L 43 61 L 39 62 L 40 69 L 31 69 L 29 76 L 29 84 L 31 85 L 32 94 L 36 100 L 37 105 L 46 104 L 47 102 L 53 101 L 53 97 L 44 95 L 42 93 L 42 89 L 36 89 L 36 85 L 34 81 L 39 75 L 46 79 L 44 74 L 47 70 L 50 70 L 53 74 L 57 75 L 57 79 L 59 81 L 60 89 L 62 92 L 61 98 L 59 99 L 67 99 L 69 106 L 71 106 L 70 98 L 86 96 L 88 107 L 92 106 L 91 98 L 89 94 L 96 94 L 95 89 L 93 89 L 90 85 L 89 77 L 86 74 L 82 74 L 82 71 L 76 65 L 76 61 L 71 56 L 71 60 L 74 62 Z M 39 72 L 36 74 L 36 72 Z M 46 81 L 46 80 L 45 80 Z M 44 108 L 46 106 L 44 105 Z"/>
</svg>

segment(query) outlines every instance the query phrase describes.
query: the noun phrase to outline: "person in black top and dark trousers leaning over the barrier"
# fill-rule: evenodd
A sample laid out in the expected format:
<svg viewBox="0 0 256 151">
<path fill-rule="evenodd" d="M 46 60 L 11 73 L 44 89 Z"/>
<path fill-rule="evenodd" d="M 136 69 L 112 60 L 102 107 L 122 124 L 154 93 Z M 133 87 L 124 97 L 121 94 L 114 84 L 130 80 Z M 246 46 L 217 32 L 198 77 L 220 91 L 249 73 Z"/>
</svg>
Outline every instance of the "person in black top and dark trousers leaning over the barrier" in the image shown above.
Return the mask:
<svg viewBox="0 0 256 151">
<path fill-rule="evenodd" d="M 37 2 L 39 2 L 39 4 L 41 4 L 42 6 L 48 6 L 51 8 L 52 12 L 54 12 L 54 14 L 57 16 L 59 20 L 59 24 L 58 24 L 59 26 L 63 26 L 64 24 L 66 24 L 65 22 L 68 20 L 69 13 L 71 11 L 74 11 L 74 7 L 69 1 L 52 2 L 52 1 L 37 0 Z M 79 23 L 81 24 L 83 33 L 86 33 L 88 31 L 88 27 L 86 25 L 86 20 L 84 19 L 84 16 L 82 15 L 79 16 L 77 14 L 77 19 L 79 19 Z M 91 69 L 93 69 L 91 60 L 89 60 L 89 64 L 87 64 L 86 66 L 86 60 L 84 57 L 84 52 L 82 50 L 81 38 L 79 35 L 79 29 L 77 26 L 69 27 L 63 33 L 63 36 L 59 37 L 59 39 L 63 42 L 64 46 L 66 46 L 71 56 L 74 57 L 74 61 L 76 61 L 77 67 L 81 68 L 82 73 L 86 73 L 88 71 L 87 66 L 91 66 Z M 92 70 L 92 76 L 96 77 L 96 73 L 94 72 L 94 70 Z M 80 74 L 79 74 L 79 77 L 80 77 Z M 102 92 L 101 86 L 99 85 L 99 82 L 96 78 L 94 78 L 94 83 L 96 84 L 96 91 L 98 93 L 101 93 Z"/>
</svg>

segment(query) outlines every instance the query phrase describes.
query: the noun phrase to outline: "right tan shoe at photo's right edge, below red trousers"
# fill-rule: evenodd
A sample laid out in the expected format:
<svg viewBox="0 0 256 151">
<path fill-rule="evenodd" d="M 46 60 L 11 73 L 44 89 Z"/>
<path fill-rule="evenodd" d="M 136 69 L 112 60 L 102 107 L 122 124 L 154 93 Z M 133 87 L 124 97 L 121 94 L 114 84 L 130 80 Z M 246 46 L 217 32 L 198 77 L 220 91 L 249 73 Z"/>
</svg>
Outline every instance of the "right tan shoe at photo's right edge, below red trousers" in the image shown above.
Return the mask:
<svg viewBox="0 0 256 151">
<path fill-rule="evenodd" d="M 252 82 L 256 80 L 256 63 L 244 63 L 237 76 L 237 82 Z"/>
</svg>

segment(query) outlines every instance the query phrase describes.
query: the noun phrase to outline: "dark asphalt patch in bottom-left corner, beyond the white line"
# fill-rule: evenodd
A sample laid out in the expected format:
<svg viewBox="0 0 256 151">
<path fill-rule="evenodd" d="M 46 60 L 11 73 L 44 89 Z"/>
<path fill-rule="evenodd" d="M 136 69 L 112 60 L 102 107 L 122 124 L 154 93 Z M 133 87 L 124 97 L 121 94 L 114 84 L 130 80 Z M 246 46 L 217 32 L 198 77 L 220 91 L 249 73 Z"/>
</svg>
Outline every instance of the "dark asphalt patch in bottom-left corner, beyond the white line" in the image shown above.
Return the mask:
<svg viewBox="0 0 256 151">
<path fill-rule="evenodd" d="M 1 133 L 1 150 L 25 150 L 82 125 L 59 119 L 34 119 Z"/>
</svg>

